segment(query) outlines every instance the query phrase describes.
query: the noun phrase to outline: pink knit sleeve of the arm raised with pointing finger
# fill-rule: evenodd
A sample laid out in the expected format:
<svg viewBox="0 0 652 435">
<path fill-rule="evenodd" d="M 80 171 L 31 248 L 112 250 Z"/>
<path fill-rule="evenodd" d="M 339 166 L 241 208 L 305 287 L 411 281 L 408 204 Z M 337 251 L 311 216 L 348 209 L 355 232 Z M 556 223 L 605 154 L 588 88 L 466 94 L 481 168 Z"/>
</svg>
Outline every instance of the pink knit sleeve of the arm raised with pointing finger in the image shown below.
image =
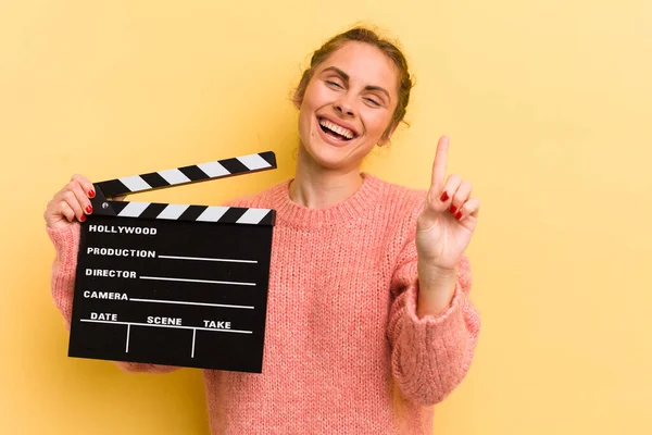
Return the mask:
<svg viewBox="0 0 652 435">
<path fill-rule="evenodd" d="M 471 285 L 471 265 L 463 254 L 451 304 L 437 316 L 419 319 L 417 253 L 412 232 L 391 279 L 387 328 L 392 374 L 406 399 L 425 406 L 438 403 L 468 372 L 480 330 L 479 314 L 468 297 Z"/>
</svg>

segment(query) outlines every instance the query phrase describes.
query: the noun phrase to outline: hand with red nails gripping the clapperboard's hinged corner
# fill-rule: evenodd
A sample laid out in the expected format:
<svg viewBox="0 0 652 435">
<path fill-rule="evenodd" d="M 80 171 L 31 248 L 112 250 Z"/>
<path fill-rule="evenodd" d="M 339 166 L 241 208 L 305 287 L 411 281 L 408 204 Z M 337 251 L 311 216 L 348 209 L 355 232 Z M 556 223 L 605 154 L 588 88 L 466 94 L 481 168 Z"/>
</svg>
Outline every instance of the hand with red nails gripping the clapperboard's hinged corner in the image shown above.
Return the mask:
<svg viewBox="0 0 652 435">
<path fill-rule="evenodd" d="M 75 222 L 84 222 L 92 213 L 90 199 L 95 197 L 92 183 L 84 175 L 73 175 L 71 182 L 59 190 L 48 202 L 43 217 L 53 229 L 65 228 Z"/>
</svg>

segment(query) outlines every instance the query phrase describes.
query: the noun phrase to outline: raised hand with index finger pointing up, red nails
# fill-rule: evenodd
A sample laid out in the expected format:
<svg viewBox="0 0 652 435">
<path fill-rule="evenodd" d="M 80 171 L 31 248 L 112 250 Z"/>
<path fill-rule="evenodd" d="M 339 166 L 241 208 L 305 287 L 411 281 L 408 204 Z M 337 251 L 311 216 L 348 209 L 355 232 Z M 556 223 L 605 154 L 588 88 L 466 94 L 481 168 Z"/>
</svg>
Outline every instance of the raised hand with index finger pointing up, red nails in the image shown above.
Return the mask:
<svg viewBox="0 0 652 435">
<path fill-rule="evenodd" d="M 416 221 L 416 250 L 422 264 L 452 271 L 468 246 L 478 221 L 480 201 L 471 197 L 471 183 L 452 174 L 444 184 L 449 138 L 437 144 L 432 182 Z"/>
</svg>

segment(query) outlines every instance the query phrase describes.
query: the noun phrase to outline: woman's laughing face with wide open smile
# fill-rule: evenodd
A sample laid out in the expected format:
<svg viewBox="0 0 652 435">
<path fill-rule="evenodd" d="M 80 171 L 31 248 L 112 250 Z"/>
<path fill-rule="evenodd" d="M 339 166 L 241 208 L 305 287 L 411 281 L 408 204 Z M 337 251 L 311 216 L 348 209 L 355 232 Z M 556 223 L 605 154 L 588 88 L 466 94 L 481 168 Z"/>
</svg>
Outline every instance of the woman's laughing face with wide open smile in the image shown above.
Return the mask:
<svg viewBox="0 0 652 435">
<path fill-rule="evenodd" d="M 299 111 L 308 154 L 330 170 L 360 167 L 383 138 L 397 108 L 393 62 L 376 47 L 346 42 L 317 66 Z"/>
</svg>

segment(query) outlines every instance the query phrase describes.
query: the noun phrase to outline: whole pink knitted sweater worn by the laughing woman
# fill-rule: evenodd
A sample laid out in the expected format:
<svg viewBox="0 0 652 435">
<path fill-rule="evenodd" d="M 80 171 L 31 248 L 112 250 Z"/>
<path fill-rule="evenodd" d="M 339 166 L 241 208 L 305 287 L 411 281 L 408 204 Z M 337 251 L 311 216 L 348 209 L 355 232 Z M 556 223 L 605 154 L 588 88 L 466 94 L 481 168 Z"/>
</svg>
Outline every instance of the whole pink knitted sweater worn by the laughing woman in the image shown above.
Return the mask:
<svg viewBox="0 0 652 435">
<path fill-rule="evenodd" d="M 426 192 L 363 176 L 323 209 L 292 202 L 290 179 L 228 202 L 277 219 L 263 373 L 203 371 L 213 434 L 432 433 L 432 405 L 464 378 L 478 339 L 468 259 L 450 307 L 418 319 L 414 237 Z M 79 226 L 48 233 L 52 295 L 70 328 Z"/>
</svg>

